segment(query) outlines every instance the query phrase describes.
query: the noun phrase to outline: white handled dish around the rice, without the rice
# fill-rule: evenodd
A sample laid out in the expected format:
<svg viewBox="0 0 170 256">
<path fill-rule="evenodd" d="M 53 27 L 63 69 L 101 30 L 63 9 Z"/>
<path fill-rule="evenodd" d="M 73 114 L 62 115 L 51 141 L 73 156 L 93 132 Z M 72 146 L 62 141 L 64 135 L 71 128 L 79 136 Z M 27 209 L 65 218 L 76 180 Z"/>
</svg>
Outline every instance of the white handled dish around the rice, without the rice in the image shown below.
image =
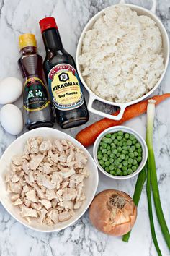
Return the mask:
<svg viewBox="0 0 170 256">
<path fill-rule="evenodd" d="M 122 4 L 122 2 L 124 2 L 124 1 L 121 1 L 121 4 Z M 123 115 L 123 113 L 125 111 L 125 108 L 127 106 L 138 103 L 139 101 L 143 101 L 145 98 L 150 96 L 151 93 L 153 93 L 153 91 L 156 90 L 156 88 L 158 88 L 158 85 L 160 85 L 161 81 L 163 80 L 164 74 L 166 73 L 166 69 L 167 69 L 168 64 L 169 64 L 169 37 L 168 37 L 166 29 L 165 29 L 164 25 L 162 24 L 161 20 L 155 14 L 155 12 L 156 12 L 156 0 L 153 0 L 153 7 L 151 8 L 151 10 L 145 9 L 143 7 L 139 7 L 139 6 L 134 5 L 134 4 L 125 4 L 125 6 L 130 7 L 130 9 L 137 12 L 138 15 L 146 15 L 146 16 L 150 17 L 152 20 L 154 20 L 154 22 L 156 22 L 156 25 L 158 26 L 158 28 L 161 32 L 161 38 L 162 38 L 163 55 L 164 55 L 164 72 L 161 74 L 161 77 L 159 78 L 156 85 L 148 93 L 146 93 L 145 95 L 143 95 L 142 97 L 138 98 L 135 101 L 130 101 L 130 102 L 127 102 L 127 103 L 116 103 L 116 102 L 104 100 L 103 98 L 100 98 L 98 95 L 95 95 L 89 89 L 88 85 L 84 81 L 84 77 L 81 75 L 81 65 L 79 64 L 79 56 L 81 55 L 81 47 L 82 47 L 82 43 L 83 43 L 83 39 L 84 39 L 84 35 L 85 35 L 86 31 L 90 30 L 91 27 L 93 27 L 94 22 L 96 22 L 96 20 L 98 20 L 99 17 L 102 16 L 102 14 L 104 14 L 105 10 L 108 9 L 109 7 L 107 7 L 106 9 L 103 9 L 101 12 L 98 12 L 96 15 L 94 15 L 94 17 L 92 17 L 91 20 L 89 20 L 89 22 L 86 24 L 86 27 L 84 27 L 84 30 L 81 33 L 81 37 L 79 38 L 79 43 L 78 43 L 77 50 L 76 50 L 76 67 L 77 67 L 77 71 L 79 73 L 79 77 L 81 79 L 81 82 L 83 83 L 86 90 L 88 90 L 88 92 L 89 92 L 89 103 L 88 103 L 88 106 L 87 106 L 89 111 L 91 111 L 94 114 L 98 114 L 99 116 L 104 116 L 104 117 L 107 117 L 107 118 L 113 119 L 113 120 L 122 119 L 122 115 Z M 106 114 L 102 111 L 94 109 L 92 104 L 95 100 L 102 101 L 103 103 L 107 103 L 109 105 L 119 107 L 120 108 L 120 113 L 117 116 L 112 116 L 111 114 Z"/>
</svg>

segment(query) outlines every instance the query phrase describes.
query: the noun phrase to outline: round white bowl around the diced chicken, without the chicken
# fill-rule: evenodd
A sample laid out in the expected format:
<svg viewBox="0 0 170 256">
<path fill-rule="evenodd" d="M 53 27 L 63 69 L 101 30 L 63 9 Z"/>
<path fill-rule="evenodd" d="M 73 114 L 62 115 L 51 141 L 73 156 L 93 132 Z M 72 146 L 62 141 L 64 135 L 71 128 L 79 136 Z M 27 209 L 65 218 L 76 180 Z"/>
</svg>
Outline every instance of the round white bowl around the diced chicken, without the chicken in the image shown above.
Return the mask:
<svg viewBox="0 0 170 256">
<path fill-rule="evenodd" d="M 10 194 L 6 191 L 6 183 L 5 183 L 5 174 L 9 171 L 9 166 L 12 161 L 12 157 L 14 155 L 23 155 L 24 152 L 24 144 L 30 137 L 38 137 L 42 136 L 45 139 L 50 139 L 51 141 L 58 138 L 60 140 L 69 140 L 73 142 L 76 147 L 81 148 L 84 151 L 85 155 L 88 157 L 88 162 L 86 164 L 86 168 L 89 171 L 89 177 L 84 179 L 84 194 L 86 196 L 86 200 L 81 205 L 81 208 L 75 210 L 75 216 L 72 216 L 68 221 L 63 221 L 55 224 L 54 226 L 47 226 L 37 222 L 37 220 L 32 220 L 31 223 L 27 223 L 27 221 L 22 218 L 19 214 L 19 208 L 17 206 L 12 205 L 10 200 Z M 33 129 L 30 132 L 24 133 L 24 135 L 14 140 L 11 145 L 5 150 L 4 154 L 1 156 L 0 160 L 0 202 L 6 208 L 6 210 L 11 214 L 17 221 L 22 223 L 24 226 L 27 226 L 30 229 L 34 229 L 36 231 L 42 232 L 53 232 L 59 231 L 61 229 L 66 229 L 66 227 L 73 225 L 75 221 L 77 221 L 81 216 L 85 213 L 85 211 L 89 208 L 91 201 L 94 198 L 94 195 L 97 191 L 98 186 L 98 170 L 96 163 L 93 158 L 89 154 L 89 152 L 84 148 L 81 143 L 75 140 L 73 137 L 67 135 L 64 132 L 60 132 L 57 129 L 52 128 L 37 128 Z"/>
</svg>

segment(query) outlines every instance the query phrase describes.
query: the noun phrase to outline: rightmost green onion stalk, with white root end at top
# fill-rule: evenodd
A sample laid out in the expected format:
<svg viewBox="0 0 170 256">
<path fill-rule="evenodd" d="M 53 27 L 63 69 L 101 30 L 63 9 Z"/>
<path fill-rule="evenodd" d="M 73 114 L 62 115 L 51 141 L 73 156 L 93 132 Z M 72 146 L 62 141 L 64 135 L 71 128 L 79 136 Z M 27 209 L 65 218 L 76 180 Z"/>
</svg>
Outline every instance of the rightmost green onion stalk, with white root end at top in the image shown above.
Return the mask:
<svg viewBox="0 0 170 256">
<path fill-rule="evenodd" d="M 166 221 L 164 218 L 164 213 L 161 207 L 161 200 L 158 191 L 158 180 L 156 174 L 156 163 L 155 163 L 155 156 L 153 152 L 153 121 L 154 121 L 154 114 L 155 114 L 155 102 L 153 100 L 148 101 L 148 108 L 147 108 L 147 130 L 146 130 L 146 144 L 148 146 L 148 172 L 149 177 L 151 174 L 151 183 L 152 192 L 153 192 L 153 200 L 156 208 L 156 215 L 158 218 L 158 222 L 161 226 L 162 234 L 164 235 L 164 239 L 166 241 L 167 246 L 170 249 L 170 234 L 169 229 L 166 225 Z M 149 203 L 149 202 L 148 202 Z M 151 213 L 151 212 L 150 212 Z M 150 221 L 151 218 L 150 218 Z M 154 241 L 154 244 L 156 240 Z"/>
</svg>

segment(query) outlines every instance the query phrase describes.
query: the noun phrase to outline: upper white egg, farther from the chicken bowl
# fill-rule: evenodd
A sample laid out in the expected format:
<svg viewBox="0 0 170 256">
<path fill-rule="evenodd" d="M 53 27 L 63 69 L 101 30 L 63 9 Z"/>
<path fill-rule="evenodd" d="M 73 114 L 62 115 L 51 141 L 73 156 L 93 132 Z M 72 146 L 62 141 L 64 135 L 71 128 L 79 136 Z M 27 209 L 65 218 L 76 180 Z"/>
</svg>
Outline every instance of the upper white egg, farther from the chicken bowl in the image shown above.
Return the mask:
<svg viewBox="0 0 170 256">
<path fill-rule="evenodd" d="M 0 104 L 8 104 L 22 95 L 22 82 L 16 77 L 7 77 L 0 82 Z"/>
</svg>

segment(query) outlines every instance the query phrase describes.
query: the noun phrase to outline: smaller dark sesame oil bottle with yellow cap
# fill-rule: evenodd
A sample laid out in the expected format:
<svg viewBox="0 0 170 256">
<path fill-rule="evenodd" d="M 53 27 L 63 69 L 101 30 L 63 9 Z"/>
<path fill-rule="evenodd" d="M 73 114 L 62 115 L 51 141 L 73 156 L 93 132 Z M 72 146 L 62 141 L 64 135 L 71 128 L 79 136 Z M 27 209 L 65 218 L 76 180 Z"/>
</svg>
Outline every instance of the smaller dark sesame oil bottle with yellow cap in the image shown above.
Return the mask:
<svg viewBox="0 0 170 256">
<path fill-rule="evenodd" d="M 24 79 L 24 124 L 27 129 L 53 127 L 48 90 L 43 82 L 42 56 L 37 54 L 35 35 L 19 36 L 19 69 Z"/>
</svg>

